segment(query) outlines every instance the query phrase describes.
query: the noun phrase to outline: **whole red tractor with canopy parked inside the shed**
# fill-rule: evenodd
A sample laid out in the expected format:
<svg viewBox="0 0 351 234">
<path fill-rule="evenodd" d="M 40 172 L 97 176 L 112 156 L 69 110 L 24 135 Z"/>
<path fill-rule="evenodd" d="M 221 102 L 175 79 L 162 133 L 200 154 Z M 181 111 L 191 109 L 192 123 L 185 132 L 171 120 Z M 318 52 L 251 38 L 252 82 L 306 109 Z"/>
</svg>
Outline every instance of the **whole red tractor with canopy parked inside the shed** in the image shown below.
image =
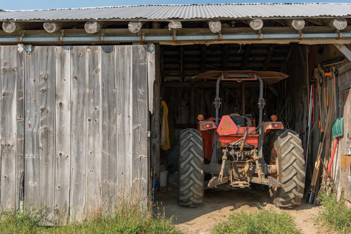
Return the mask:
<svg viewBox="0 0 351 234">
<path fill-rule="evenodd" d="M 293 208 L 301 203 L 305 181 L 305 159 L 299 135 L 284 129 L 272 116 L 262 121 L 265 105 L 263 80 L 276 83 L 288 76 L 269 71 L 210 71 L 191 82 L 216 79 L 214 107 L 216 117 L 198 116 L 196 129 L 180 132 L 178 143 L 178 202 L 182 206 L 201 206 L 205 174 L 212 179 L 207 186 L 230 183 L 232 187 L 270 187 L 277 207 Z M 224 115 L 219 118 L 220 81 L 259 81 L 259 118 L 251 115 Z M 244 113 L 243 113 L 244 115 Z M 274 130 L 274 132 L 273 132 Z M 271 132 L 272 131 L 272 132 Z M 271 132 L 269 152 L 263 155 L 264 137 Z"/>
</svg>

